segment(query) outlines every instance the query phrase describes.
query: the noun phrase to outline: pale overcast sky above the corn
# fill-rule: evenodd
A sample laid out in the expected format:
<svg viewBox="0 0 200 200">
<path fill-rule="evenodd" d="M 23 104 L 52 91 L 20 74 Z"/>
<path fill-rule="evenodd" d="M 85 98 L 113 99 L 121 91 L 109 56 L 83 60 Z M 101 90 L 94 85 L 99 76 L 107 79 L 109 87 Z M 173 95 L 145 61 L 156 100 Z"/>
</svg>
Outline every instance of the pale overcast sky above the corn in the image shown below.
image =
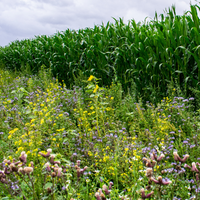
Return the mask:
<svg viewBox="0 0 200 200">
<path fill-rule="evenodd" d="M 0 46 L 67 29 L 93 28 L 114 22 L 113 18 L 143 22 L 172 5 L 182 15 L 190 10 L 190 2 L 197 4 L 195 0 L 1 0 Z"/>
</svg>

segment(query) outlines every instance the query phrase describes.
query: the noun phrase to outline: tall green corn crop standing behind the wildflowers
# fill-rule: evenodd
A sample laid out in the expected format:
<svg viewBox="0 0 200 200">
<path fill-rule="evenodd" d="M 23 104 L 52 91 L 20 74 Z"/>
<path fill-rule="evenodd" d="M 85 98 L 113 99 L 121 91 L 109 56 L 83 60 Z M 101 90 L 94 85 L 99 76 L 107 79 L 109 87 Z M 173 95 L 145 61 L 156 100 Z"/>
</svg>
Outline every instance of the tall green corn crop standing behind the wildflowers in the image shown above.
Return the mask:
<svg viewBox="0 0 200 200">
<path fill-rule="evenodd" d="M 152 89 L 165 95 L 170 82 L 188 92 L 200 81 L 199 11 L 197 4 L 190 5 L 180 16 L 172 6 L 144 23 L 125 24 L 120 18 L 94 28 L 14 41 L 0 48 L 0 61 L 12 70 L 30 66 L 33 73 L 45 65 L 68 87 L 81 72 L 101 78 L 103 85 L 117 79 L 126 91 L 134 83 L 143 96 Z"/>
</svg>

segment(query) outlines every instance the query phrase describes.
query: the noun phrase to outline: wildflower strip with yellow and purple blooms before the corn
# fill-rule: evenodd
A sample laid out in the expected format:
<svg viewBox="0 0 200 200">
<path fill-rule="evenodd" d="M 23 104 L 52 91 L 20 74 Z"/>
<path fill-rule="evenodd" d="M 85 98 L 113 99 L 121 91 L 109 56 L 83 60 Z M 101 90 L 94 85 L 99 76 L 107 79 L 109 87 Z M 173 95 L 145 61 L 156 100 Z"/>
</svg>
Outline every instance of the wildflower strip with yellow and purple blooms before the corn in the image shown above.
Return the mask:
<svg viewBox="0 0 200 200">
<path fill-rule="evenodd" d="M 98 78 L 0 71 L 1 199 L 199 199 L 199 112 L 169 89 L 145 106 Z"/>
</svg>

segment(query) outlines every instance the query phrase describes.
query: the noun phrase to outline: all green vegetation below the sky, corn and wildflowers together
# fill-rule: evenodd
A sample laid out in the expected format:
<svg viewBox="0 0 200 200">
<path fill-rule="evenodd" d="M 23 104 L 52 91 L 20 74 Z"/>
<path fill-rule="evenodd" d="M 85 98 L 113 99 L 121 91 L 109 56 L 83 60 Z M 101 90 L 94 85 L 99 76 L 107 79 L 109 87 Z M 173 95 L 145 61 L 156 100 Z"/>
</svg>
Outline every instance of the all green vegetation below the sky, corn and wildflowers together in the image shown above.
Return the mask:
<svg viewBox="0 0 200 200">
<path fill-rule="evenodd" d="M 200 199 L 190 8 L 0 48 L 0 199 Z"/>
</svg>

